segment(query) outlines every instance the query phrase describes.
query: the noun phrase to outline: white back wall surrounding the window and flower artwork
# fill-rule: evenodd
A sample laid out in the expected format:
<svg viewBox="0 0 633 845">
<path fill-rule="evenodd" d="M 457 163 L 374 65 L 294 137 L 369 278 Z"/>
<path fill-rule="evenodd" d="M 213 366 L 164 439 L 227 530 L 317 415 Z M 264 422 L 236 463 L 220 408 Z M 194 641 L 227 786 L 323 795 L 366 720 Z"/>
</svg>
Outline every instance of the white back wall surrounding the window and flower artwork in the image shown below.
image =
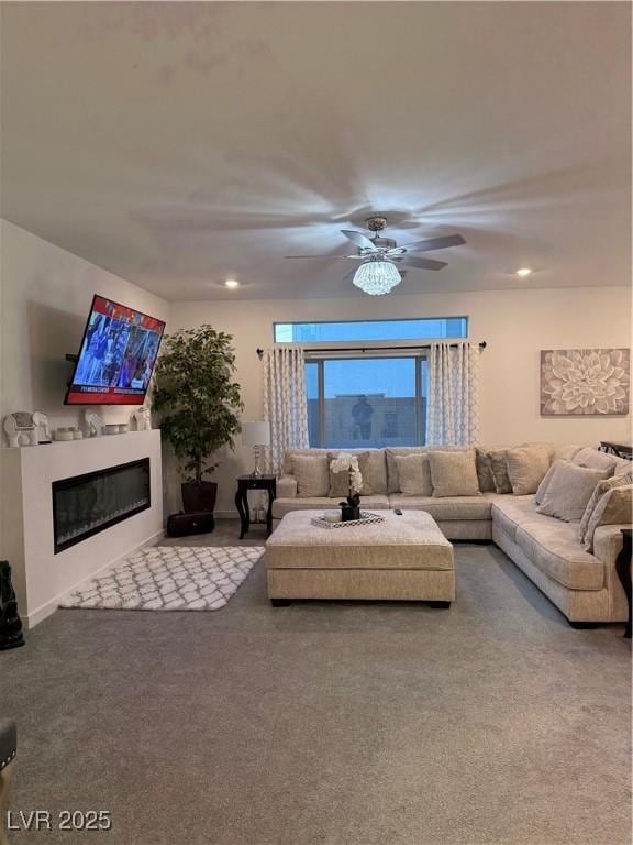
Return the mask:
<svg viewBox="0 0 633 845">
<path fill-rule="evenodd" d="M 631 294 L 626 287 L 549 290 L 487 290 L 419 296 L 337 299 L 174 303 L 173 329 L 210 322 L 235 338 L 237 381 L 245 419 L 262 414 L 262 365 L 257 347 L 273 342 L 273 322 L 382 319 L 467 315 L 470 338 L 486 340 L 481 358 L 481 441 L 584 442 L 629 438 L 626 417 L 541 417 L 538 363 L 542 349 L 629 347 Z M 220 511 L 232 511 L 234 479 L 252 467 L 252 452 L 238 446 L 215 478 Z"/>
</svg>

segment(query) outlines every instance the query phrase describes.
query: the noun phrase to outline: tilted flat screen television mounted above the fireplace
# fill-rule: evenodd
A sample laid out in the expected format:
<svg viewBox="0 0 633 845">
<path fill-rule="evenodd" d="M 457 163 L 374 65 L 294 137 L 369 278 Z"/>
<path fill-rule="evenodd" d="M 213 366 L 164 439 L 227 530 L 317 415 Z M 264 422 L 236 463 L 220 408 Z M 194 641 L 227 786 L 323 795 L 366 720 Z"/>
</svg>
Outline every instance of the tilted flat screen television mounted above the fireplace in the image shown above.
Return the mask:
<svg viewBox="0 0 633 845">
<path fill-rule="evenodd" d="M 164 329 L 163 320 L 95 296 L 65 404 L 142 404 Z"/>
</svg>

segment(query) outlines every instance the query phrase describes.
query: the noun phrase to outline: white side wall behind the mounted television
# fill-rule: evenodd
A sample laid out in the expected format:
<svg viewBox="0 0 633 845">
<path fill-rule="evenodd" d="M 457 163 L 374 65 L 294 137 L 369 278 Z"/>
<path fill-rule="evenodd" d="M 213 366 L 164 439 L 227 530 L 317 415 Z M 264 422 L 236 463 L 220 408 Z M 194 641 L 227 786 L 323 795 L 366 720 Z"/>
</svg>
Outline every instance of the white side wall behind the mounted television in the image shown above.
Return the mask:
<svg viewBox="0 0 633 845">
<path fill-rule="evenodd" d="M 79 408 L 65 407 L 73 364 L 93 294 L 167 320 L 169 303 L 48 241 L 0 221 L 0 417 L 43 410 L 53 428 L 77 425 Z M 104 408 L 108 421 L 126 422 L 134 407 Z M 4 438 L 2 437 L 4 441 Z"/>
</svg>

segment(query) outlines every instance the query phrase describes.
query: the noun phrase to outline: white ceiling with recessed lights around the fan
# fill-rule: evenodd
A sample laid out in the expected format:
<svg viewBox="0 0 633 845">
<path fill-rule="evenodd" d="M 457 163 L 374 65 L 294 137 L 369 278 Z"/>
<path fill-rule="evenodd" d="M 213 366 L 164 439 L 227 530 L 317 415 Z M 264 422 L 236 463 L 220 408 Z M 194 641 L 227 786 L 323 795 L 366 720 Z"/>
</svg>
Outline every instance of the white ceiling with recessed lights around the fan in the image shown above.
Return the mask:
<svg viewBox="0 0 633 845">
<path fill-rule="evenodd" d="M 370 212 L 467 240 L 397 294 L 630 282 L 629 3 L 1 13 L 2 216 L 168 299 L 348 296 L 284 255 Z"/>
</svg>

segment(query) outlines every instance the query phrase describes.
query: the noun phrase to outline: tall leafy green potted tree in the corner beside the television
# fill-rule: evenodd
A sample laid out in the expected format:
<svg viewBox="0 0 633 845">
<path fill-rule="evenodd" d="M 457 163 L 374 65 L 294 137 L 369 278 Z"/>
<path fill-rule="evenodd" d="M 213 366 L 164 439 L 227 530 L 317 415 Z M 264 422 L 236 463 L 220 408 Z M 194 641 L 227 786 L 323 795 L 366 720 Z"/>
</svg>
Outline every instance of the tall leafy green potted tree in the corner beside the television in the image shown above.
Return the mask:
<svg viewBox="0 0 633 845">
<path fill-rule="evenodd" d="M 213 512 L 218 484 L 203 475 L 218 467 L 211 456 L 222 446 L 233 449 L 240 431 L 244 406 L 232 341 L 211 326 L 182 329 L 165 338 L 156 363 L 152 407 L 185 474 L 186 513 Z"/>
</svg>

